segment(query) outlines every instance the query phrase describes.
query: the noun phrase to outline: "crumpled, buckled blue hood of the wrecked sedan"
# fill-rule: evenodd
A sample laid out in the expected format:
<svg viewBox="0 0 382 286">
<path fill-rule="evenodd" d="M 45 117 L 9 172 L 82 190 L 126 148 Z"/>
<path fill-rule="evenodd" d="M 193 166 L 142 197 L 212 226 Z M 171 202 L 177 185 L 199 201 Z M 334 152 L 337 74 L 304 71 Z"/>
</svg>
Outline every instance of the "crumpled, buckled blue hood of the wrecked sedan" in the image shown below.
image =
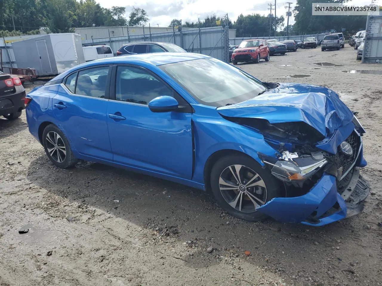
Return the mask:
<svg viewBox="0 0 382 286">
<path fill-rule="evenodd" d="M 222 116 L 260 118 L 272 123 L 303 121 L 327 137 L 349 124 L 353 113 L 326 87 L 282 83 L 262 95 L 217 108 Z"/>
</svg>

